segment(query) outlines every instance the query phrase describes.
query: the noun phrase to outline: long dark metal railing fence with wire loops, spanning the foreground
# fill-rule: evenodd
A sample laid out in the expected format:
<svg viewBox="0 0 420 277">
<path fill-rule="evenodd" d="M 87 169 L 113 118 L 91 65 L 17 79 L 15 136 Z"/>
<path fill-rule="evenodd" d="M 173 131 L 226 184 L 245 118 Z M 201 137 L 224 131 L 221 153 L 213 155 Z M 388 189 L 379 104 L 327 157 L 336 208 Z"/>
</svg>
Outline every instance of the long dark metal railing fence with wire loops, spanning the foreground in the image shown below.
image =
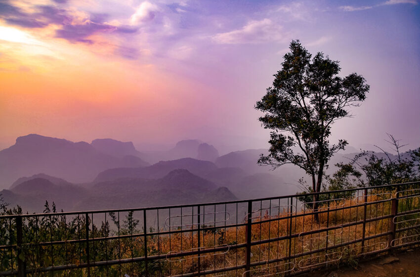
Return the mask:
<svg viewBox="0 0 420 277">
<path fill-rule="evenodd" d="M 0 276 L 292 276 L 415 247 L 419 215 L 419 182 L 194 205 L 2 215 Z"/>
</svg>

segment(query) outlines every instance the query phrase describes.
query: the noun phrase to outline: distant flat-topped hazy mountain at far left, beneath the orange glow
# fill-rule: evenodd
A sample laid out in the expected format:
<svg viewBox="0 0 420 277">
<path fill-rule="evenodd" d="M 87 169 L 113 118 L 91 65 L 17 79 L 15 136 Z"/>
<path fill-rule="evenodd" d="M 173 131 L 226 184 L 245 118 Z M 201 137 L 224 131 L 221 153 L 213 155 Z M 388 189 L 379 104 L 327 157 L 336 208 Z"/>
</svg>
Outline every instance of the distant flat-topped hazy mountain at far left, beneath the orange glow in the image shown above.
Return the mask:
<svg viewBox="0 0 420 277">
<path fill-rule="evenodd" d="M 108 168 L 144 166 L 139 158 L 118 158 L 87 142 L 72 142 L 31 134 L 0 151 L 0 188 L 22 176 L 44 173 L 73 183 L 90 182 Z"/>
</svg>

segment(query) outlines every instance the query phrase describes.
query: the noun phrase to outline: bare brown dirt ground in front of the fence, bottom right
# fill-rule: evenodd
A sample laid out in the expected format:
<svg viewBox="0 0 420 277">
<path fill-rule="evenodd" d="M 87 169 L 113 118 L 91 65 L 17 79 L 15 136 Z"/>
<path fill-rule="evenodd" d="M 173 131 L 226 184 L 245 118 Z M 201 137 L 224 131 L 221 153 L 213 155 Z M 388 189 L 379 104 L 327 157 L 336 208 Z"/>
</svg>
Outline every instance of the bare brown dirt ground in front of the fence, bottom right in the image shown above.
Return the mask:
<svg viewBox="0 0 420 277">
<path fill-rule="evenodd" d="M 388 263 L 386 263 L 388 262 Z M 385 264 L 384 264 L 385 263 Z M 420 250 L 409 250 L 393 256 L 361 262 L 356 269 L 340 268 L 314 272 L 305 277 L 420 277 Z"/>
</svg>

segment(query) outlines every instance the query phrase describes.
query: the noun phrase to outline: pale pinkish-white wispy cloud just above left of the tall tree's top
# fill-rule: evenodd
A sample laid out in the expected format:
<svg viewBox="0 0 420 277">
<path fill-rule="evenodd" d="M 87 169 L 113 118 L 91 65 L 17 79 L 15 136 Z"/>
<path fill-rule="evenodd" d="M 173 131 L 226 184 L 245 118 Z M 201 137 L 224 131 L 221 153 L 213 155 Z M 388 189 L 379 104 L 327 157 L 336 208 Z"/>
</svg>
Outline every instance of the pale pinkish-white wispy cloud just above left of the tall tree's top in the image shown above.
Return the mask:
<svg viewBox="0 0 420 277">
<path fill-rule="evenodd" d="M 259 44 L 283 39 L 282 27 L 268 18 L 250 21 L 240 30 L 213 36 L 213 40 L 218 44 Z"/>
</svg>

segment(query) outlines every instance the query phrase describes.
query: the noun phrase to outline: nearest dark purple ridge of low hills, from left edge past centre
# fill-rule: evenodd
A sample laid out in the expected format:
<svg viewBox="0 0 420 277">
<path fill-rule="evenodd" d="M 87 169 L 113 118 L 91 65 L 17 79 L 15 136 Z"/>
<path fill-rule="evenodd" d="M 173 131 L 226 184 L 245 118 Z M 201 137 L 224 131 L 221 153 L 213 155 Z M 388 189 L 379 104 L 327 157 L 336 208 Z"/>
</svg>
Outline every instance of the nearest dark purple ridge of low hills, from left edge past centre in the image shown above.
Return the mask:
<svg viewBox="0 0 420 277">
<path fill-rule="evenodd" d="M 52 179 L 53 177 L 48 177 Z M 56 185 L 45 178 L 27 178 L 0 191 L 4 200 L 24 210 L 41 212 L 45 200 L 66 211 L 140 208 L 163 205 L 230 201 L 237 197 L 226 187 L 176 169 L 157 179 L 119 179 L 94 185 Z M 58 179 L 58 178 L 57 178 Z"/>
</svg>

